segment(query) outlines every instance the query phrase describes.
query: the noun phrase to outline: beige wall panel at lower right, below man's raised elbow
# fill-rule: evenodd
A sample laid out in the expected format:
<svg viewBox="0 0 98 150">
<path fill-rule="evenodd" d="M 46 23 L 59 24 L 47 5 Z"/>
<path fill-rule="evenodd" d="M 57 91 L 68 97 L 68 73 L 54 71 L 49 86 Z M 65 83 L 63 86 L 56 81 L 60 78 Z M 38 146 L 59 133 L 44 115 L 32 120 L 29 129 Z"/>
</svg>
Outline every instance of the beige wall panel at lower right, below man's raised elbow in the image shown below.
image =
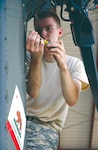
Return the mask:
<svg viewBox="0 0 98 150">
<path fill-rule="evenodd" d="M 60 148 L 88 149 L 92 102 L 90 90 L 87 90 L 81 93 L 77 104 L 69 108 L 65 126 L 60 134 Z"/>
</svg>

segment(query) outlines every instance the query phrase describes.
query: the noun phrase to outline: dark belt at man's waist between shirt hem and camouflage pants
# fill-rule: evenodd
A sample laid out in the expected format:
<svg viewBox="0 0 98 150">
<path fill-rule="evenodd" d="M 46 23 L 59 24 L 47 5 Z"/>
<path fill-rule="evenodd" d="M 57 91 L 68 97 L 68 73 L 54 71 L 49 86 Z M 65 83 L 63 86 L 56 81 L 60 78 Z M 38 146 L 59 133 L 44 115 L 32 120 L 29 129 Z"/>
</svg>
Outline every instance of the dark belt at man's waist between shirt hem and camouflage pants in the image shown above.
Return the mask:
<svg viewBox="0 0 98 150">
<path fill-rule="evenodd" d="M 38 124 L 41 124 L 41 125 L 44 125 L 44 126 L 47 126 L 47 127 L 50 127 L 54 130 L 56 130 L 54 127 L 51 126 L 51 121 L 48 121 L 48 122 L 44 122 L 44 121 L 41 121 L 39 118 L 37 117 L 33 117 L 33 116 L 26 116 L 26 119 L 27 121 L 32 121 L 32 122 L 35 122 L 35 123 L 38 123 Z"/>
</svg>

